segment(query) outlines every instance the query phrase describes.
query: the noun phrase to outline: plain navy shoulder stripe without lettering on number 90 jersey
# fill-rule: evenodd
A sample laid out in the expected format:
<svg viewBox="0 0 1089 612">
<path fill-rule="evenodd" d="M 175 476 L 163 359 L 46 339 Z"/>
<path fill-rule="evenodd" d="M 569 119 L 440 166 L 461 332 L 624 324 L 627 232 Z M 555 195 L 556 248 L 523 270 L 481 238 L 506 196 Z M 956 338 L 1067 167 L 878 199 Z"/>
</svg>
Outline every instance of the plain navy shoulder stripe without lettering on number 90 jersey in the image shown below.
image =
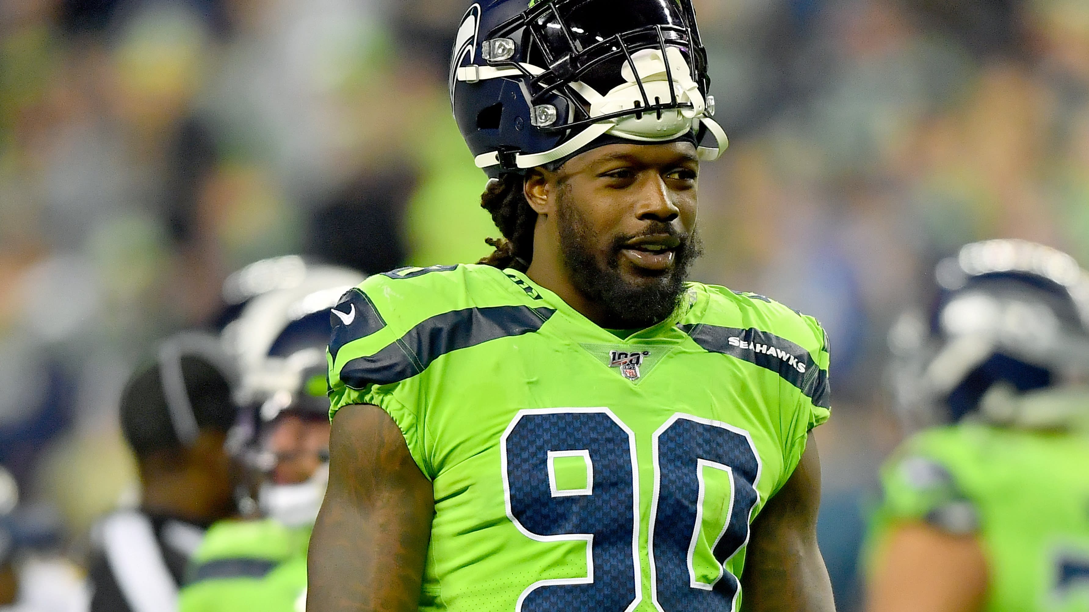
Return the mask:
<svg viewBox="0 0 1089 612">
<path fill-rule="evenodd" d="M 357 390 L 400 382 L 423 372 L 446 353 L 538 331 L 554 314 L 552 308 L 490 306 L 436 315 L 378 353 L 344 364 L 340 378 Z"/>
</svg>

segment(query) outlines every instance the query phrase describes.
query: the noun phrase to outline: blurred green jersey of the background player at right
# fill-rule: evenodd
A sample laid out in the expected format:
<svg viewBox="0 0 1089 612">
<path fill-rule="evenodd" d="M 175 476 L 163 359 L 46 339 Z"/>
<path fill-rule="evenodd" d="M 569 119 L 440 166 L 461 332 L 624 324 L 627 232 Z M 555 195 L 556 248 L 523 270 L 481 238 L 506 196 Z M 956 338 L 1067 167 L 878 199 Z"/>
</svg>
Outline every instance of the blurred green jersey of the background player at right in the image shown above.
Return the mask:
<svg viewBox="0 0 1089 612">
<path fill-rule="evenodd" d="M 897 523 L 923 521 L 979 539 L 984 611 L 1089 610 L 1089 436 L 974 423 L 931 429 L 893 455 L 882 484 L 871 555 Z"/>
</svg>

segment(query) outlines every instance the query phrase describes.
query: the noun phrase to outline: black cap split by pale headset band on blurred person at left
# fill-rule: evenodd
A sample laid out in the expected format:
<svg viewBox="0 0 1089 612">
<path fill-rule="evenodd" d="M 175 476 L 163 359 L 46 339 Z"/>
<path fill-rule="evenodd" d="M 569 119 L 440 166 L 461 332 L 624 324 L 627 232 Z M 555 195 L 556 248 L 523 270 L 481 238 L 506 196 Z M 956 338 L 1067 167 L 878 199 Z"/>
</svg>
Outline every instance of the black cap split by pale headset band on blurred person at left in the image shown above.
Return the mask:
<svg viewBox="0 0 1089 612">
<path fill-rule="evenodd" d="M 187 406 L 171 397 L 160 362 L 138 370 L 121 396 L 121 431 L 137 457 L 155 451 L 179 450 L 184 438 L 179 431 L 176 411 L 191 411 L 198 431 L 227 432 L 234 425 L 236 408 L 231 383 L 217 365 L 194 355 L 179 358 L 183 393 Z M 168 375 L 169 376 L 169 375 Z M 173 404 L 173 405 L 172 405 Z"/>
</svg>

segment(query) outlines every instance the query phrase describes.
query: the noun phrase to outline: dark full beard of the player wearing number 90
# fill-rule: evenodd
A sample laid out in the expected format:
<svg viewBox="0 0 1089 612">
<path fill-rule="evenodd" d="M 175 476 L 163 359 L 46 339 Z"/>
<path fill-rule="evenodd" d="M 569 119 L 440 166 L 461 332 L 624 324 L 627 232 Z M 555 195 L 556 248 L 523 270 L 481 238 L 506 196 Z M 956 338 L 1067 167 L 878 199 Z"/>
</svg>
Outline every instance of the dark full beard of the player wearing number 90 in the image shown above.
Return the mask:
<svg viewBox="0 0 1089 612">
<path fill-rule="evenodd" d="M 598 256 L 598 236 L 563 189 L 556 201 L 556 223 L 560 252 L 572 284 L 587 299 L 604 308 L 605 319 L 615 329 L 644 329 L 669 318 L 684 295 L 688 268 L 702 255 L 697 232 L 681 234 L 669 223 L 654 221 L 639 234 L 616 236 L 602 262 Z M 681 241 L 673 266 L 662 274 L 644 277 L 639 284 L 631 283 L 620 270 L 621 250 L 633 238 L 650 234 L 669 234 Z"/>
</svg>

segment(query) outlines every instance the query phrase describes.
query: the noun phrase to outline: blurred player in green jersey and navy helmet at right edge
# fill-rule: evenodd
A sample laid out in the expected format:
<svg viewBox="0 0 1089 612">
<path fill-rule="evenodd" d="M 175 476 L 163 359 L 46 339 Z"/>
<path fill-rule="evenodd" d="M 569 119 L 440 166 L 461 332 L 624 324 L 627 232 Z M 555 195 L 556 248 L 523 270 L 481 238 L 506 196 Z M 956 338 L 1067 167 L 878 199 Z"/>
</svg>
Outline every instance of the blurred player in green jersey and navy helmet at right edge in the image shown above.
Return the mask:
<svg viewBox="0 0 1089 612">
<path fill-rule="evenodd" d="M 910 438 L 882 473 L 869 610 L 1089 610 L 1089 276 L 1021 241 L 937 270 L 891 344 Z"/>
</svg>

